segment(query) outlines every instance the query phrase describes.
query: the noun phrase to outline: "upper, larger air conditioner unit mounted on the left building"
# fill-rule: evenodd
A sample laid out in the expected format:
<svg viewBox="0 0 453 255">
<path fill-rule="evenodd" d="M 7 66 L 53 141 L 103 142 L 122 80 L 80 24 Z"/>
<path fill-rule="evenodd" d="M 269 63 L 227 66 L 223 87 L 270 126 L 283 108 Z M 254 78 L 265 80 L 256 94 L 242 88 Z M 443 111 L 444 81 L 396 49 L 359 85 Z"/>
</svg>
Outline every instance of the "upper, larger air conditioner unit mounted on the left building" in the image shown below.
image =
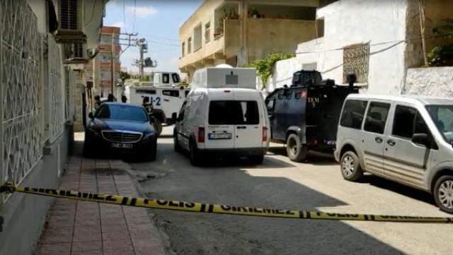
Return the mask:
<svg viewBox="0 0 453 255">
<path fill-rule="evenodd" d="M 57 1 L 58 28 L 54 32 L 57 43 L 86 43 L 84 33 L 84 1 Z"/>
</svg>

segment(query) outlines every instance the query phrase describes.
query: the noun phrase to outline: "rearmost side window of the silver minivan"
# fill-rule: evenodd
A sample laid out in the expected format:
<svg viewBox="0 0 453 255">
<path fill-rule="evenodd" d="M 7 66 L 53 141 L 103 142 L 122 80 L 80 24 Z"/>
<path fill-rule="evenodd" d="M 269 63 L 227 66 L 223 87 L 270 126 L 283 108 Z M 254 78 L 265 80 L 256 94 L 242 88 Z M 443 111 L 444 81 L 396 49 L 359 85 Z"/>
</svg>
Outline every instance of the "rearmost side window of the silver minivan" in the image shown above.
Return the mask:
<svg viewBox="0 0 453 255">
<path fill-rule="evenodd" d="M 363 115 L 367 101 L 348 100 L 343 107 L 341 114 L 340 125 L 351 129 L 360 129 L 362 127 Z"/>
</svg>

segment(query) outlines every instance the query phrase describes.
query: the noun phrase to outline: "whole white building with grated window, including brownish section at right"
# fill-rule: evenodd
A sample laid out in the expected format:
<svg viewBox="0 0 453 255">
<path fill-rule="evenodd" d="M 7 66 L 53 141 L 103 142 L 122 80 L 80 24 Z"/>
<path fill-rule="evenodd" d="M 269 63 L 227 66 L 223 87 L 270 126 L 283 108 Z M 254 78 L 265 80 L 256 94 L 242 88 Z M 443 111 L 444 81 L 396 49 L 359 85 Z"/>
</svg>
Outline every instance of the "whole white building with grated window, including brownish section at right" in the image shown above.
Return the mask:
<svg viewBox="0 0 453 255">
<path fill-rule="evenodd" d="M 294 71 L 316 69 L 338 84 L 347 83 L 346 75 L 353 72 L 362 92 L 405 93 L 408 70 L 424 64 L 421 37 L 429 52 L 447 40 L 433 37 L 432 28 L 453 17 L 452 1 L 419 4 L 418 0 L 340 0 L 319 8 L 316 20 L 323 20 L 319 22 L 323 36 L 300 43 L 294 59 L 277 62 L 268 90 L 290 84 Z"/>
</svg>

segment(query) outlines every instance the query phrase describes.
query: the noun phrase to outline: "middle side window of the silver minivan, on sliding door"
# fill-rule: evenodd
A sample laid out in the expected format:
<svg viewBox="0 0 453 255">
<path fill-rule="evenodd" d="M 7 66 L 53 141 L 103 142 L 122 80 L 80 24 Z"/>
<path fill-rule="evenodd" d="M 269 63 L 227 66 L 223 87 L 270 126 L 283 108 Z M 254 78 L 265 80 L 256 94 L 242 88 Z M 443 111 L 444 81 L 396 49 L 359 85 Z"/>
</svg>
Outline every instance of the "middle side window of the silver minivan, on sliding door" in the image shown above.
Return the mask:
<svg viewBox="0 0 453 255">
<path fill-rule="evenodd" d="M 382 102 L 369 103 L 367 118 L 365 119 L 365 131 L 384 134 L 387 115 L 389 114 L 390 104 Z"/>
</svg>

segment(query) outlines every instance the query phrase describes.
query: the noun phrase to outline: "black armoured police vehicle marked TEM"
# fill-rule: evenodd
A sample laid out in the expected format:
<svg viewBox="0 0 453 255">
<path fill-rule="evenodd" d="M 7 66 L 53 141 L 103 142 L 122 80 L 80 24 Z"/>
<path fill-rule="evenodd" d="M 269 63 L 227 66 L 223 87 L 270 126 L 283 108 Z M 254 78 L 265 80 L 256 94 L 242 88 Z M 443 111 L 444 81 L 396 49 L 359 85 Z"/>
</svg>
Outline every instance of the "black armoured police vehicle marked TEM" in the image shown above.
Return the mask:
<svg viewBox="0 0 453 255">
<path fill-rule="evenodd" d="M 340 109 L 350 93 L 358 88 L 322 81 L 318 71 L 294 73 L 291 87 L 266 97 L 271 141 L 286 143 L 289 159 L 296 162 L 305 160 L 308 150 L 333 153 Z"/>
</svg>

